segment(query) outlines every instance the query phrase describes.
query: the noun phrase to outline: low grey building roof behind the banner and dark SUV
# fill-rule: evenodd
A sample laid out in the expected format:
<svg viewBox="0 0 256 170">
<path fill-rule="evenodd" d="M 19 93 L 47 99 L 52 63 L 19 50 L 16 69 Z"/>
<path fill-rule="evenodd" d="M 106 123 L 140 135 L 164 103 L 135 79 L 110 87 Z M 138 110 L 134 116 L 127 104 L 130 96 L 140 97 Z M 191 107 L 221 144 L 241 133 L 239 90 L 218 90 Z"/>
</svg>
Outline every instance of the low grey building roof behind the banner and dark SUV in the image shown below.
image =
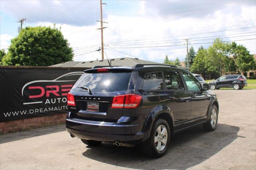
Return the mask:
<svg viewBox="0 0 256 170">
<path fill-rule="evenodd" d="M 137 58 L 115 58 L 109 59 L 111 65 L 113 66 L 125 66 L 125 67 L 132 67 L 136 64 L 159 64 L 153 61 L 146 61 Z M 108 60 L 93 60 L 93 61 L 67 61 L 65 63 L 60 63 L 56 65 L 51 65 L 50 67 L 94 67 L 94 66 L 108 66 Z M 177 66 L 180 67 L 180 66 Z M 180 67 L 182 69 L 189 69 L 187 67 Z"/>
</svg>

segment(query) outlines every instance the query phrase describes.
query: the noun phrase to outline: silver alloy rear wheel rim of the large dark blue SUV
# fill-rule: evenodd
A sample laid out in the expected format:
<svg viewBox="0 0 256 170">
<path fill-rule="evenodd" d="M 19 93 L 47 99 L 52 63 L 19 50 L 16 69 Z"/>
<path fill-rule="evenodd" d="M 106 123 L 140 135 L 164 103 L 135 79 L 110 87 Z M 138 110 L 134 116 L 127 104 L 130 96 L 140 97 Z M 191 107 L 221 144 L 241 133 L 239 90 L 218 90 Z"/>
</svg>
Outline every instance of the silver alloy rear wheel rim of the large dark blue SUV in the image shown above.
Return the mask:
<svg viewBox="0 0 256 170">
<path fill-rule="evenodd" d="M 168 133 L 167 129 L 164 125 L 160 125 L 155 132 L 155 147 L 156 150 L 162 151 L 166 147 L 167 144 L 167 139 L 168 139 Z"/>
</svg>

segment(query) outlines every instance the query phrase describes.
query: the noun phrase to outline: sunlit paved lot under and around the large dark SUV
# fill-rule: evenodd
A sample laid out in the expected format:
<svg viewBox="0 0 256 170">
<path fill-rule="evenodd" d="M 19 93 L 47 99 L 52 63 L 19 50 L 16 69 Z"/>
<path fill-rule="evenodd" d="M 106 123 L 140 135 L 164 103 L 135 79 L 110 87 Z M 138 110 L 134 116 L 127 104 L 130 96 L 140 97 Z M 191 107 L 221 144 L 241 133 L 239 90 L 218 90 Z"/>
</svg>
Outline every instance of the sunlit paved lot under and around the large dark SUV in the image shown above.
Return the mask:
<svg viewBox="0 0 256 170">
<path fill-rule="evenodd" d="M 216 131 L 200 126 L 176 134 L 162 158 L 148 158 L 139 147 L 91 148 L 58 125 L 1 135 L 0 169 L 256 169 L 256 90 L 214 92 Z"/>
</svg>

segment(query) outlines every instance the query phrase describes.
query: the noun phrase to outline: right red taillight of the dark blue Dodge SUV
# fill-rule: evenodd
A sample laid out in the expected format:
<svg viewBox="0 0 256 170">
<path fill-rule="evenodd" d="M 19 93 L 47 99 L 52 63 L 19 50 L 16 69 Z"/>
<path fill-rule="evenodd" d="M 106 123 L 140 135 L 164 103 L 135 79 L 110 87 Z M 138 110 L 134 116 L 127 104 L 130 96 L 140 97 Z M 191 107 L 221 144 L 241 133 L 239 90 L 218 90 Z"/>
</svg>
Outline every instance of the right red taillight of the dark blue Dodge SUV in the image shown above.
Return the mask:
<svg viewBox="0 0 256 170">
<path fill-rule="evenodd" d="M 142 96 L 137 94 L 114 96 L 111 108 L 133 109 L 138 107 L 141 100 Z"/>
</svg>

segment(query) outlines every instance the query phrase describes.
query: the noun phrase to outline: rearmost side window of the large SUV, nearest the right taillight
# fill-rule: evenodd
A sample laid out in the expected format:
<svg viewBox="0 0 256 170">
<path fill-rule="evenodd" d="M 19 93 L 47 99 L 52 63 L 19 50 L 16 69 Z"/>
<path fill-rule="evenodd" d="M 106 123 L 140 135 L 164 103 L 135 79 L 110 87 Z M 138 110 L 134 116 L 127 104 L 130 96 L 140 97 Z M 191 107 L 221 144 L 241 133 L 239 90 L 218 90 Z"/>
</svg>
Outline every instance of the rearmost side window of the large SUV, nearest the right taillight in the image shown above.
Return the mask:
<svg viewBox="0 0 256 170">
<path fill-rule="evenodd" d="M 147 73 L 144 76 L 142 85 L 143 90 L 162 90 L 163 88 L 162 72 Z"/>
</svg>

